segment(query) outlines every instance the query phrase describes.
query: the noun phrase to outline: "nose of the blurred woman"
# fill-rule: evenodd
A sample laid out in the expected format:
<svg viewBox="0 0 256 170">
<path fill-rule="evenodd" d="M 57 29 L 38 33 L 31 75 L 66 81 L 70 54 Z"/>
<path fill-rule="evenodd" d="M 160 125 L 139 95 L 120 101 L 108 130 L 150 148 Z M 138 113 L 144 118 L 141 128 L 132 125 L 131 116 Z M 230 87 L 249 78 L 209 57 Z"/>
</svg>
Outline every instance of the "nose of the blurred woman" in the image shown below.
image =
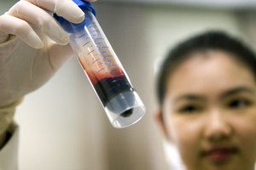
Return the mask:
<svg viewBox="0 0 256 170">
<path fill-rule="evenodd" d="M 229 139 L 232 134 L 232 127 L 228 117 L 223 112 L 215 110 L 207 114 L 204 135 L 211 142 L 219 142 Z"/>
</svg>

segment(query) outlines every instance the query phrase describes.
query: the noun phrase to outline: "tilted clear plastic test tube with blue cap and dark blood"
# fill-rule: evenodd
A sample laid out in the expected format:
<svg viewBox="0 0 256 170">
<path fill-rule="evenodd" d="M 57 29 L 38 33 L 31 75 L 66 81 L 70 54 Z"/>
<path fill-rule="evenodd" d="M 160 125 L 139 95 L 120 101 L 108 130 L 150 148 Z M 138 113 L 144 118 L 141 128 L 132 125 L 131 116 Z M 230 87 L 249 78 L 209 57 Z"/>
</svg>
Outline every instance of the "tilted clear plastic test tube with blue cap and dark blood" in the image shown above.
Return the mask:
<svg viewBox="0 0 256 170">
<path fill-rule="evenodd" d="M 70 33 L 73 52 L 113 127 L 128 127 L 145 114 L 143 102 L 97 22 L 95 9 L 83 0 L 73 2 L 84 11 L 82 23 L 70 23 L 56 14 L 55 19 Z"/>
</svg>

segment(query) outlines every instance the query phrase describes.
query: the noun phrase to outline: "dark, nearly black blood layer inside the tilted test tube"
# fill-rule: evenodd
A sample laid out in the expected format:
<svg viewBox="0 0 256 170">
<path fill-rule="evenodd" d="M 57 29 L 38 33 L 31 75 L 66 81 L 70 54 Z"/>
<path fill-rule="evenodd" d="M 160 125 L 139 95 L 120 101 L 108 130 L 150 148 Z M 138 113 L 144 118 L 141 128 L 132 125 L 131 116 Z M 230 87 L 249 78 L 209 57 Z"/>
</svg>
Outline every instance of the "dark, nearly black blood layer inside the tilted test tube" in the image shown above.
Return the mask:
<svg viewBox="0 0 256 170">
<path fill-rule="evenodd" d="M 104 78 L 96 82 L 94 88 L 96 89 L 96 93 L 99 95 L 104 106 L 106 106 L 109 100 L 113 99 L 117 94 L 125 91 L 132 91 L 131 84 L 124 76 Z"/>
</svg>

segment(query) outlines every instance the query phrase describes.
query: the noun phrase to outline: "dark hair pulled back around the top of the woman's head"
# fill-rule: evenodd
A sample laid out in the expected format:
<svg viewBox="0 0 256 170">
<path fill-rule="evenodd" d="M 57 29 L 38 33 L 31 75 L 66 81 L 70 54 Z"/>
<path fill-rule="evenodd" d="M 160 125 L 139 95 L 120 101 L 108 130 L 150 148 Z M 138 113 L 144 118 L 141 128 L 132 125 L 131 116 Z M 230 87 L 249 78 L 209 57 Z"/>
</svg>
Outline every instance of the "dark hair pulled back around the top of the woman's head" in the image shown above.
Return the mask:
<svg viewBox="0 0 256 170">
<path fill-rule="evenodd" d="M 156 84 L 157 97 L 160 105 L 163 104 L 166 94 L 166 82 L 172 71 L 185 59 L 193 56 L 189 54 L 207 50 L 221 50 L 232 54 L 231 56 L 234 59 L 238 59 L 242 64 L 246 65 L 256 77 L 256 57 L 252 49 L 223 31 L 207 31 L 179 43 L 167 54 L 166 59 L 164 59 L 160 66 Z"/>
</svg>

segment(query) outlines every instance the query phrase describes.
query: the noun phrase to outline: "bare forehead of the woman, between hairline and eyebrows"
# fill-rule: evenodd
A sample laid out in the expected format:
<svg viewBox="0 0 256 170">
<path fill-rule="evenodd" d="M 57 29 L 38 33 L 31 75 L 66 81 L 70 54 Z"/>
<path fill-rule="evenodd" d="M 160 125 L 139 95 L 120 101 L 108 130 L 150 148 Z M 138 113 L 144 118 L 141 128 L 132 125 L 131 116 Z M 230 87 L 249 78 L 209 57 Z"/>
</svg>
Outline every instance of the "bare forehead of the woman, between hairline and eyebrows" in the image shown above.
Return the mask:
<svg viewBox="0 0 256 170">
<path fill-rule="evenodd" d="M 253 72 L 231 54 L 207 51 L 192 55 L 168 77 L 167 94 L 216 94 L 237 86 L 255 86 Z"/>
</svg>

